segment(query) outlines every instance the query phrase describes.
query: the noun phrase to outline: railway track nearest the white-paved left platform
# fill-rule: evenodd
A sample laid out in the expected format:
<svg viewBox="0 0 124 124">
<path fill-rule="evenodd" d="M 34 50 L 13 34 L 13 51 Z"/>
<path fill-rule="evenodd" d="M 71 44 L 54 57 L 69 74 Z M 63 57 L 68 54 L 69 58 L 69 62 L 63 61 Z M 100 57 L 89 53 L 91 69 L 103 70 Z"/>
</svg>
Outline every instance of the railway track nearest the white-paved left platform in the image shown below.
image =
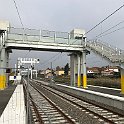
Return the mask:
<svg viewBox="0 0 124 124">
<path fill-rule="evenodd" d="M 75 124 L 75 120 L 65 114 L 55 103 L 36 87 L 29 86 L 30 106 L 36 124 Z"/>
</svg>

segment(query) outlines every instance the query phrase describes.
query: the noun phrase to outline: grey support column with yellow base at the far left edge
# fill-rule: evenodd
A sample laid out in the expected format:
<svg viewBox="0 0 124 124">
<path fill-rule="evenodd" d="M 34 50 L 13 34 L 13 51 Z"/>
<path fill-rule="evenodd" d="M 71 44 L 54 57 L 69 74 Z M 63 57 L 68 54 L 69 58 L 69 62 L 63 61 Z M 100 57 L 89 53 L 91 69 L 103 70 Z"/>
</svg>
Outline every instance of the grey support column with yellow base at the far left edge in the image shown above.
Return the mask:
<svg viewBox="0 0 124 124">
<path fill-rule="evenodd" d="M 5 48 L 1 49 L 1 58 L 0 58 L 0 89 L 4 89 L 6 87 L 6 57 L 5 57 Z"/>
</svg>

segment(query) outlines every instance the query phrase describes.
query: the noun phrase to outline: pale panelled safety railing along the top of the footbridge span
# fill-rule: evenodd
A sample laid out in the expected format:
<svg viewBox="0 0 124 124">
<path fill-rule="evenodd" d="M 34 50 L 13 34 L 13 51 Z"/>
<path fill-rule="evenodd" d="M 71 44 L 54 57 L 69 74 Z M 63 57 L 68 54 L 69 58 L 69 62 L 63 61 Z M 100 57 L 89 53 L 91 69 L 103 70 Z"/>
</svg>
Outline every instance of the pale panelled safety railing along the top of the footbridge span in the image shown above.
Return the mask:
<svg viewBox="0 0 124 124">
<path fill-rule="evenodd" d="M 75 36 L 80 37 L 75 37 Z M 55 32 L 48 30 L 23 29 L 9 27 L 7 39 L 23 42 L 57 43 L 67 45 L 81 45 L 82 35 L 68 32 Z"/>
</svg>

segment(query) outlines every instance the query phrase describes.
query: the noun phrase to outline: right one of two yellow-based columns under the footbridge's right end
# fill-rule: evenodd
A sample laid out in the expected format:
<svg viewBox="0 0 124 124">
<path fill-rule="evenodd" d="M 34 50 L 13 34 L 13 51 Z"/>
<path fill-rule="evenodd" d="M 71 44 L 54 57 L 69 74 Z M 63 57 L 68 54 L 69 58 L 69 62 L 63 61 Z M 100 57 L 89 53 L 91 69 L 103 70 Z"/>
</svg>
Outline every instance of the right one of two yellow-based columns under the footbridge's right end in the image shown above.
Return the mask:
<svg viewBox="0 0 124 124">
<path fill-rule="evenodd" d="M 87 87 L 86 52 L 83 51 L 83 88 Z"/>
</svg>

